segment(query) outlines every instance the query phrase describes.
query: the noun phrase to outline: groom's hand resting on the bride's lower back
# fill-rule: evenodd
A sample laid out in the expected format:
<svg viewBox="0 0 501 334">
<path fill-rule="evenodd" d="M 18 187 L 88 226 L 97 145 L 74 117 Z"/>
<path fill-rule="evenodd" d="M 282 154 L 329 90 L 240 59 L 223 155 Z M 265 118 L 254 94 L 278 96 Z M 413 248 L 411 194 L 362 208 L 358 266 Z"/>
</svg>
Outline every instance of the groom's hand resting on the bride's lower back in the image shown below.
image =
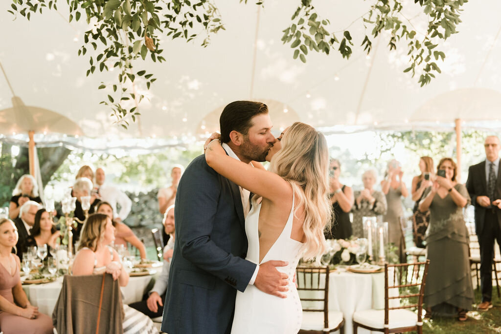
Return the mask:
<svg viewBox="0 0 501 334">
<path fill-rule="evenodd" d="M 289 276 L 277 270 L 276 267 L 286 266 L 287 264 L 289 263 L 286 261 L 274 260 L 260 264 L 254 285 L 263 292 L 286 298 L 287 296 L 282 292 L 289 290 L 287 286 L 289 284 L 287 280 Z"/>
</svg>

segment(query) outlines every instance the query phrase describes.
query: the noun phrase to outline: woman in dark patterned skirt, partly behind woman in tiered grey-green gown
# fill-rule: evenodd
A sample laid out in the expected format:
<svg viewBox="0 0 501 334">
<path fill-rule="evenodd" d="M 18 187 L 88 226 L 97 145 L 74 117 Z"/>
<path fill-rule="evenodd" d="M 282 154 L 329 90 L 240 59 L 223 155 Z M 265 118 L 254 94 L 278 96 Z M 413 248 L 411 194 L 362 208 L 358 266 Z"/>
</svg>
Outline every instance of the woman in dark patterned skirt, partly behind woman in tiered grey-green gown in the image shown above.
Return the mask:
<svg viewBox="0 0 501 334">
<path fill-rule="evenodd" d="M 423 197 L 424 189 L 433 184 L 431 181 L 435 177 L 433 174 L 433 159 L 429 156 L 421 156 L 419 158 L 419 170 L 421 170 L 421 174 L 412 178 L 411 187 L 412 200 L 415 201 L 412 209 L 412 234 L 416 247 L 424 248 L 423 240 L 430 222 L 430 211 L 419 211 L 419 202 Z"/>
</svg>

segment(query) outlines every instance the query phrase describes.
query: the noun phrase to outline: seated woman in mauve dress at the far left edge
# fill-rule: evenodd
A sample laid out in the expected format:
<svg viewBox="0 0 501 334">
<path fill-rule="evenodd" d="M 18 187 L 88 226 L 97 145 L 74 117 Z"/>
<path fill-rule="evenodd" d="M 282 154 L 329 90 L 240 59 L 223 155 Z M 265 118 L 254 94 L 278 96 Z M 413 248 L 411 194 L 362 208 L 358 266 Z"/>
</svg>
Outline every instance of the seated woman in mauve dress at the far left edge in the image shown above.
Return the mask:
<svg viewBox="0 0 501 334">
<path fill-rule="evenodd" d="M 28 300 L 21 285 L 20 260 L 11 253 L 18 241 L 14 222 L 0 219 L 0 328 L 5 334 L 52 334 L 52 319 Z"/>
</svg>

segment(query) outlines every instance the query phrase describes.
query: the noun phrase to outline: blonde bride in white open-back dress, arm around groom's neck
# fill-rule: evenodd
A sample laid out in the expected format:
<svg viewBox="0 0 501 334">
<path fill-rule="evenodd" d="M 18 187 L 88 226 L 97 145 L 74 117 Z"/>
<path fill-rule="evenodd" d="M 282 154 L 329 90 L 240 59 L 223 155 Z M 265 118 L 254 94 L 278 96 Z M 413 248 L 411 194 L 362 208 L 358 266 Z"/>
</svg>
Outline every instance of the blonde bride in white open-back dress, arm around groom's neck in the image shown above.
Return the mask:
<svg viewBox="0 0 501 334">
<path fill-rule="evenodd" d="M 207 164 L 256 195 L 245 219 L 246 259 L 260 264 L 288 261 L 277 267 L 288 274 L 289 290 L 280 298 L 248 285 L 237 292 L 232 333 L 296 333 L 302 308 L 292 277 L 301 257 L 314 259 L 325 251 L 324 227 L 330 221 L 329 151 L 324 135 L 295 122 L 271 148 L 270 171 L 254 168 L 228 155 L 217 139 L 205 151 Z M 259 165 L 257 165 L 259 166 Z"/>
</svg>

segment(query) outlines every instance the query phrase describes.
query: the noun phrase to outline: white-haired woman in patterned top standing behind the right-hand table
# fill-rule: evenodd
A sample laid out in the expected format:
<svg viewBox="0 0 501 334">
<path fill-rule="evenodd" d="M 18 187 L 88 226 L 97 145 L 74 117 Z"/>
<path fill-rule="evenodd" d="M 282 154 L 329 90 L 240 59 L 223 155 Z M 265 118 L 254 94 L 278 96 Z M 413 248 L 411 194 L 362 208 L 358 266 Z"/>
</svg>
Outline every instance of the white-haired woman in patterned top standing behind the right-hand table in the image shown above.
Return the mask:
<svg viewBox="0 0 501 334">
<path fill-rule="evenodd" d="M 387 209 L 386 197 L 381 191 L 374 190 L 377 176 L 374 169 L 368 169 L 362 174 L 364 189 L 355 191 L 355 204 L 353 205 L 353 235 L 364 237 L 362 217 L 378 216 L 385 214 Z"/>
</svg>

